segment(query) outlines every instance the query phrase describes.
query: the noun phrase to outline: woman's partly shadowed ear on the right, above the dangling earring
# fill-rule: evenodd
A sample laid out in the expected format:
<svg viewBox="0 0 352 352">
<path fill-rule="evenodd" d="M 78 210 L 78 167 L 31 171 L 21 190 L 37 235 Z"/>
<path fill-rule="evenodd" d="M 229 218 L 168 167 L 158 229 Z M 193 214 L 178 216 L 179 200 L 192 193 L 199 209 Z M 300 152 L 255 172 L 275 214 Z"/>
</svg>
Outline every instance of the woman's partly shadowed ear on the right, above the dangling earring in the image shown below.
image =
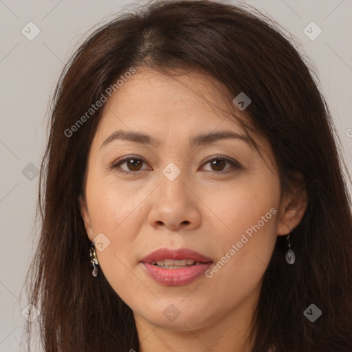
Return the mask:
<svg viewBox="0 0 352 352">
<path fill-rule="evenodd" d="M 278 219 L 278 236 L 289 234 L 291 229 L 298 226 L 307 209 L 307 191 L 301 175 L 296 175 L 292 182 L 294 192 L 283 196 Z"/>
</svg>

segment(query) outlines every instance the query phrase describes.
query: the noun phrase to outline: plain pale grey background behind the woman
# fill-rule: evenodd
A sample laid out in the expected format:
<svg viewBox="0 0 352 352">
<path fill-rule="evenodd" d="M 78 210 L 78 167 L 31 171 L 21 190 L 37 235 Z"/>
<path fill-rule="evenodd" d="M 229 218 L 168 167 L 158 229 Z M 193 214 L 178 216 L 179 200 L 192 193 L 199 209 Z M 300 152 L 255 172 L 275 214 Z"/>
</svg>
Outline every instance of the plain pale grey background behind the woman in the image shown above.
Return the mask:
<svg viewBox="0 0 352 352">
<path fill-rule="evenodd" d="M 25 323 L 21 311 L 28 303 L 21 289 L 37 241 L 36 169 L 43 157 L 47 104 L 54 85 L 63 63 L 85 34 L 133 3 L 0 0 L 0 351 L 24 351 L 19 347 Z M 246 3 L 291 33 L 298 50 L 314 65 L 352 173 L 351 0 Z M 33 34 L 27 26 L 30 21 L 41 31 L 32 41 L 21 32 L 27 28 Z M 314 41 L 303 32 L 311 21 L 322 29 Z M 316 33 L 314 28 L 309 31 Z"/>
</svg>

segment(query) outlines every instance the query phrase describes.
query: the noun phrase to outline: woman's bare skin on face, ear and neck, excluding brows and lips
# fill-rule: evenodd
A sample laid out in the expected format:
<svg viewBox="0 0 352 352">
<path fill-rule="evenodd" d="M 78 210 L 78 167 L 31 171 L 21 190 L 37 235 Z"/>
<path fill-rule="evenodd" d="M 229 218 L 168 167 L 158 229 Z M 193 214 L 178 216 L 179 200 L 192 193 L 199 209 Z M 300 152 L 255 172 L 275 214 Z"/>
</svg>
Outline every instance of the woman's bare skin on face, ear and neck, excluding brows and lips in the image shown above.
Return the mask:
<svg viewBox="0 0 352 352">
<path fill-rule="evenodd" d="M 305 212 L 302 192 L 281 198 L 272 148 L 263 137 L 256 137 L 262 156 L 239 139 L 188 145 L 203 133 L 245 134 L 214 109 L 223 101 L 221 89 L 201 74 L 175 80 L 138 69 L 107 101 L 91 144 L 81 213 L 91 241 L 100 233 L 110 241 L 102 252 L 96 250 L 100 270 L 133 310 L 142 352 L 250 351 L 252 341 L 245 342 L 276 236 L 288 234 Z M 248 122 L 245 111 L 234 107 L 233 112 Z M 118 129 L 147 133 L 159 145 L 114 140 L 102 146 Z M 129 155 L 142 164 L 111 168 Z M 211 166 L 217 156 L 234 159 L 241 168 L 228 162 Z M 173 181 L 162 173 L 170 162 L 181 171 Z M 211 278 L 165 286 L 140 263 L 164 247 L 190 248 L 217 263 L 272 208 L 276 214 Z M 179 311 L 173 321 L 163 314 L 170 304 Z"/>
</svg>

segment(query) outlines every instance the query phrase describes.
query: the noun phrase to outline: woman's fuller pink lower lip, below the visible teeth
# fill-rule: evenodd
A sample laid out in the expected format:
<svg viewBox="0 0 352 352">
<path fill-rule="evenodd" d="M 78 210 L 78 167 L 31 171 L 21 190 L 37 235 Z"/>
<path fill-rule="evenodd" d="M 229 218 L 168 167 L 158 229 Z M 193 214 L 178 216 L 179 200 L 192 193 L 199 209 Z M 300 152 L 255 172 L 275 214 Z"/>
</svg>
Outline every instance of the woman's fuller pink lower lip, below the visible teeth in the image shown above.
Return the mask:
<svg viewBox="0 0 352 352">
<path fill-rule="evenodd" d="M 148 274 L 158 283 L 168 286 L 186 285 L 192 283 L 204 274 L 212 262 L 179 269 L 164 269 L 156 265 L 142 263 Z"/>
</svg>

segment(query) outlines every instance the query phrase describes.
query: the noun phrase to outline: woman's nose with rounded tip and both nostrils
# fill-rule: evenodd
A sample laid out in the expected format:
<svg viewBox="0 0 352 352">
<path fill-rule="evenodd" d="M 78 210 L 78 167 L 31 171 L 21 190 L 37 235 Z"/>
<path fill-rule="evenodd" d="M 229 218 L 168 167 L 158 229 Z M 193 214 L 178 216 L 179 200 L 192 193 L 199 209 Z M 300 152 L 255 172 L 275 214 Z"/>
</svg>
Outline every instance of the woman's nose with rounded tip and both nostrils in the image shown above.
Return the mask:
<svg viewBox="0 0 352 352">
<path fill-rule="evenodd" d="M 162 175 L 151 201 L 148 222 L 155 229 L 195 230 L 201 224 L 201 201 L 182 173 L 173 181 Z"/>
</svg>

